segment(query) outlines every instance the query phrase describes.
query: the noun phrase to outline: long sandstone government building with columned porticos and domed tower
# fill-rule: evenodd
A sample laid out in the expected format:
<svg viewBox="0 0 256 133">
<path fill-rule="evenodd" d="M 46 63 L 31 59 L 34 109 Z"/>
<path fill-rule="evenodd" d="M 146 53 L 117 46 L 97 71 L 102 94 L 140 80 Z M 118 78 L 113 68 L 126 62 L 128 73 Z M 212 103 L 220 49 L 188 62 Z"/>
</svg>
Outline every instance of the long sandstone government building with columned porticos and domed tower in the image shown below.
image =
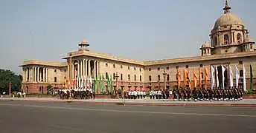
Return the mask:
<svg viewBox="0 0 256 133">
<path fill-rule="evenodd" d="M 176 85 L 176 69 L 198 69 L 207 67 L 211 71 L 212 65 L 231 65 L 240 69 L 240 86 L 243 86 L 243 64 L 246 67 L 246 86 L 249 89 L 250 71 L 253 66 L 253 74 L 256 77 L 256 47 L 255 42 L 249 37 L 249 30 L 241 19 L 231 13 L 231 7 L 226 1 L 224 13 L 214 24 L 210 33 L 210 42 L 202 44 L 201 55 L 188 58 L 174 58 L 159 61 L 137 61 L 112 55 L 92 52 L 89 44 L 82 41 L 79 50 L 69 52 L 63 63 L 47 61 L 24 61 L 22 66 L 22 89 L 27 93 L 46 93 L 46 86 L 51 84 L 55 89 L 63 87 L 64 79 L 74 79 L 77 76 L 111 75 L 115 80 L 118 73 L 118 89 L 123 90 L 149 90 L 164 89 Z M 221 71 L 221 69 L 219 69 Z M 166 75 L 163 75 L 163 72 Z M 193 71 L 192 71 L 193 72 Z M 202 71 L 203 72 L 203 71 Z M 225 86 L 228 86 L 228 67 L 225 71 Z M 219 79 L 222 78 L 218 72 Z M 196 71 L 198 75 L 198 71 Z M 165 78 L 164 78 L 165 77 Z M 183 77 L 183 75 L 182 75 Z M 202 76 L 202 85 L 205 84 Z M 210 84 L 208 76 L 208 84 Z M 183 78 L 181 78 L 183 79 Z M 193 79 L 193 78 L 192 78 Z M 105 78 L 106 80 L 106 78 Z M 254 83 L 256 78 L 253 79 Z M 115 83 L 114 83 L 115 84 Z M 199 84 L 199 83 L 198 83 Z M 106 85 L 106 84 L 105 84 Z M 166 85 L 166 86 L 165 86 Z M 165 87 L 164 87 L 165 86 Z M 254 84 L 254 88 L 255 88 Z"/>
</svg>

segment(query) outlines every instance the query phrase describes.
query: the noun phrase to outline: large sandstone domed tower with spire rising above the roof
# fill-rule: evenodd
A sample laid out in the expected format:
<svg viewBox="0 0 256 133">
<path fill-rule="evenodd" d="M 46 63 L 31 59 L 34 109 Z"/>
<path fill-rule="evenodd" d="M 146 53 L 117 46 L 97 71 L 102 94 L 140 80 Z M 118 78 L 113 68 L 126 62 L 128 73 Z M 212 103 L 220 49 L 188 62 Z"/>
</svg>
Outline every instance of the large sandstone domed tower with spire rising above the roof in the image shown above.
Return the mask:
<svg viewBox="0 0 256 133">
<path fill-rule="evenodd" d="M 238 16 L 231 13 L 228 1 L 225 1 L 223 10 L 224 14 L 217 18 L 214 28 L 211 30 L 210 38 L 213 47 L 211 54 L 248 51 L 244 46 L 254 44 L 254 42 L 251 40 L 252 42 L 246 43 L 247 38 L 249 38 L 249 31 L 245 24 Z"/>
</svg>

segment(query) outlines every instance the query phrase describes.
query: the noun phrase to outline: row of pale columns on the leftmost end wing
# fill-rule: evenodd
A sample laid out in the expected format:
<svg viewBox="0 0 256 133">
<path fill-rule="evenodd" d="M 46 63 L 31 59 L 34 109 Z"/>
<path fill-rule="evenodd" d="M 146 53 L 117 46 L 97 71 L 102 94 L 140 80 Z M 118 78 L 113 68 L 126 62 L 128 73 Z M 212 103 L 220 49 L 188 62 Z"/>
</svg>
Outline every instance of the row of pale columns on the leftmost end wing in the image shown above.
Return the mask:
<svg viewBox="0 0 256 133">
<path fill-rule="evenodd" d="M 23 82 L 48 82 L 48 68 L 25 67 L 22 72 Z"/>
</svg>

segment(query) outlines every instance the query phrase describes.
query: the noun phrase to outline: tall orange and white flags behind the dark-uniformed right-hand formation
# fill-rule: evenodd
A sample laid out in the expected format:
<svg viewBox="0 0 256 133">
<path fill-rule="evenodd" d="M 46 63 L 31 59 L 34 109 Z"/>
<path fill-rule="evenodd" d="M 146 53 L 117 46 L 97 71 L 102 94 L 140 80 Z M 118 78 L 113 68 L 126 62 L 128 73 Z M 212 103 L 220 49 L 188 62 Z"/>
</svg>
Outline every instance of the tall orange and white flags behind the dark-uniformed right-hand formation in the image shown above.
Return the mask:
<svg viewBox="0 0 256 133">
<path fill-rule="evenodd" d="M 225 66 L 221 65 L 221 69 L 222 69 L 222 86 L 224 88 L 225 86 Z M 204 70 L 204 77 L 205 77 L 205 89 L 207 88 L 207 79 L 208 79 L 208 69 L 206 67 L 203 68 Z M 231 65 L 228 65 L 228 70 L 229 70 L 229 86 L 233 87 L 234 83 L 233 80 L 235 78 L 235 86 L 238 87 L 238 83 L 239 83 L 239 79 L 240 79 L 240 71 L 237 68 L 237 65 L 235 66 L 235 74 L 233 74 L 232 69 L 231 69 Z M 178 88 L 180 88 L 181 86 L 181 72 L 179 72 L 179 69 L 176 69 L 176 78 L 177 78 L 177 85 Z M 202 87 L 202 68 L 199 67 L 198 68 L 198 77 L 196 75 L 196 70 L 193 68 L 193 87 L 197 87 L 197 78 L 199 78 L 199 88 Z M 218 67 L 217 66 L 211 66 L 211 89 L 214 88 L 214 83 L 216 82 L 216 87 L 220 87 L 220 81 L 219 81 L 219 73 L 218 73 Z M 215 74 L 217 76 L 215 76 Z M 215 81 L 216 79 L 216 81 Z M 253 83 L 252 83 L 252 79 L 253 79 L 253 75 L 252 75 L 252 65 L 250 65 L 250 89 L 252 89 L 253 87 Z M 192 80 L 191 80 L 191 75 L 190 75 L 190 71 L 189 69 L 184 69 L 183 71 L 183 81 L 184 81 L 184 88 L 186 88 L 187 86 L 187 80 L 188 80 L 188 86 L 189 88 L 192 88 Z M 243 64 L 243 89 L 246 89 L 246 69 L 245 66 Z"/>
</svg>

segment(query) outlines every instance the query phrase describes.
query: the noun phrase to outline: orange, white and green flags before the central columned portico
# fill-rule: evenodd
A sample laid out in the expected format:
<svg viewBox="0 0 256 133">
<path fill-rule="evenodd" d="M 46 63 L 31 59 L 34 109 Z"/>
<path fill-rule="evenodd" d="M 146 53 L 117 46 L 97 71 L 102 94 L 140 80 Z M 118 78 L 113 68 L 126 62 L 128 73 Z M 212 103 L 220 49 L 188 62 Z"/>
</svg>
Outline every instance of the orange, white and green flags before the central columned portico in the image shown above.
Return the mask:
<svg viewBox="0 0 256 133">
<path fill-rule="evenodd" d="M 81 78 L 77 77 L 77 78 L 74 78 L 73 80 L 69 80 L 68 78 L 65 78 L 63 87 L 65 89 L 92 89 L 92 91 L 96 91 L 96 93 L 98 92 L 105 93 L 104 81 L 105 81 L 105 78 L 103 75 L 100 75 L 99 79 L 97 79 L 96 76 L 93 79 L 92 79 L 92 76 L 90 77 L 82 76 Z M 113 86 L 111 75 L 108 75 L 106 77 L 106 90 L 109 90 L 109 87 L 110 87 L 110 93 L 112 94 L 114 91 L 114 86 Z"/>
</svg>

